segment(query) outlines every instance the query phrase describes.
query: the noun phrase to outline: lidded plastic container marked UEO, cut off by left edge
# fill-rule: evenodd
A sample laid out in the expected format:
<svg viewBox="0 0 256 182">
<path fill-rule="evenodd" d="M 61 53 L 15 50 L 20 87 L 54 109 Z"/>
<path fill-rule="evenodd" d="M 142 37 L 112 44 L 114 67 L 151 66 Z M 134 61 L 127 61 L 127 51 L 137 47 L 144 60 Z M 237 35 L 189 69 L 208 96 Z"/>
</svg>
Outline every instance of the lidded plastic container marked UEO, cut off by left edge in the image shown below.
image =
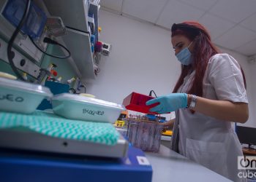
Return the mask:
<svg viewBox="0 0 256 182">
<path fill-rule="evenodd" d="M 44 98 L 52 96 L 42 85 L 0 77 L 0 111 L 30 114 Z"/>
</svg>

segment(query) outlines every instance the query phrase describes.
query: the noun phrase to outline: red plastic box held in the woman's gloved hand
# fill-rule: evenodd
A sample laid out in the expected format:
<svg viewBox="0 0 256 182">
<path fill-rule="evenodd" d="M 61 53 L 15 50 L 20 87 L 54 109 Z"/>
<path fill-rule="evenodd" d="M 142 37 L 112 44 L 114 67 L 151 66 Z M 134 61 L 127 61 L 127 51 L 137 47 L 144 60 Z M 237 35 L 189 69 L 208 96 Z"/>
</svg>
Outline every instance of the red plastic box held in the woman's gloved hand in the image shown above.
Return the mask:
<svg viewBox="0 0 256 182">
<path fill-rule="evenodd" d="M 149 111 L 149 109 L 154 108 L 154 106 L 157 106 L 159 103 L 154 103 L 151 106 L 146 106 L 146 102 L 151 99 L 153 99 L 153 97 L 132 92 L 130 95 L 124 98 L 123 105 L 128 110 L 138 111 L 145 114 L 157 114 Z"/>
</svg>

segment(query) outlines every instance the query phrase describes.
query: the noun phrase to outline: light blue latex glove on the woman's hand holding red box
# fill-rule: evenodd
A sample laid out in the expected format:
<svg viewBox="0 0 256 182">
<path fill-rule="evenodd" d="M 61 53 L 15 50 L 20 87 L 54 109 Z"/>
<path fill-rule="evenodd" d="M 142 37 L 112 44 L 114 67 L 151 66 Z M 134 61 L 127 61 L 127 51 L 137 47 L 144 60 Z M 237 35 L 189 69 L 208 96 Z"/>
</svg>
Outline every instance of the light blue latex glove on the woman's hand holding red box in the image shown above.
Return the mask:
<svg viewBox="0 0 256 182">
<path fill-rule="evenodd" d="M 146 102 L 147 106 L 153 103 L 159 103 L 159 105 L 151 108 L 149 111 L 157 112 L 159 114 L 165 114 L 178 110 L 178 108 L 187 107 L 187 93 L 171 93 L 170 95 L 164 95 L 159 98 L 154 98 Z"/>
</svg>

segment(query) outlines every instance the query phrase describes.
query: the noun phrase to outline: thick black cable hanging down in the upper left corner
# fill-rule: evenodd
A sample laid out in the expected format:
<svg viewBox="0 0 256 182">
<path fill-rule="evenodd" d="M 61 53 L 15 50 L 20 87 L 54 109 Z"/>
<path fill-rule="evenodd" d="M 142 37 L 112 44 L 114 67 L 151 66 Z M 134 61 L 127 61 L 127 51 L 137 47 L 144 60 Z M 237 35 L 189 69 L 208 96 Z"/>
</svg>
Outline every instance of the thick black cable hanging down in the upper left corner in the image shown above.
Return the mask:
<svg viewBox="0 0 256 182">
<path fill-rule="evenodd" d="M 16 27 L 15 31 L 12 33 L 11 39 L 8 42 L 8 46 L 7 46 L 7 58 L 10 63 L 10 66 L 12 68 L 12 71 L 15 73 L 15 75 L 18 77 L 18 79 L 21 79 L 23 81 L 25 81 L 25 79 L 23 79 L 23 76 L 20 75 L 20 73 L 18 72 L 18 69 L 16 68 L 16 66 L 12 60 L 13 59 L 12 44 L 14 43 L 16 36 L 20 32 L 20 29 L 23 27 L 24 23 L 26 22 L 27 17 L 29 16 L 30 4 L 31 4 L 31 0 L 28 0 L 26 2 L 26 8 L 25 8 L 25 11 L 23 12 L 23 16 L 20 20 L 20 23 Z"/>
</svg>

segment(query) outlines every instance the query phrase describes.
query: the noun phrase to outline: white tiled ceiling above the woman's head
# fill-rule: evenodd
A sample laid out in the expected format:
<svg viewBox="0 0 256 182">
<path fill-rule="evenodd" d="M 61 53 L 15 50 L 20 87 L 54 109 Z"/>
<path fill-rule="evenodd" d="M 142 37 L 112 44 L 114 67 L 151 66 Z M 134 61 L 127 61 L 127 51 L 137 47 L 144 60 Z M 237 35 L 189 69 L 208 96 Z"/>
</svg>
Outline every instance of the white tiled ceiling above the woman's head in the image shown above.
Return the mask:
<svg viewBox="0 0 256 182">
<path fill-rule="evenodd" d="M 243 55 L 256 55 L 255 0 L 102 0 L 101 6 L 170 29 L 197 20 L 215 44 Z"/>
</svg>

